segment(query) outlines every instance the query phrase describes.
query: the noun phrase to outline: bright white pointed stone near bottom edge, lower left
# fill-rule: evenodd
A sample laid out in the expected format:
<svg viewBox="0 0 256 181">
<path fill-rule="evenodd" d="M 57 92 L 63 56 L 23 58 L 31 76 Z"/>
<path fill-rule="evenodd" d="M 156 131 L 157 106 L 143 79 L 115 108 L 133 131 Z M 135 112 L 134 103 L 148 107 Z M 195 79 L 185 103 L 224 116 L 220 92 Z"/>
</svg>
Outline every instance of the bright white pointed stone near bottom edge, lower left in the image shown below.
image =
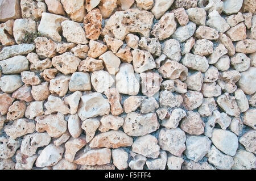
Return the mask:
<svg viewBox="0 0 256 181">
<path fill-rule="evenodd" d="M 63 153 L 64 148 L 50 144 L 43 149 L 42 153 L 38 156 L 38 159 L 36 159 L 35 164 L 37 167 L 56 165 L 62 158 Z"/>
</svg>

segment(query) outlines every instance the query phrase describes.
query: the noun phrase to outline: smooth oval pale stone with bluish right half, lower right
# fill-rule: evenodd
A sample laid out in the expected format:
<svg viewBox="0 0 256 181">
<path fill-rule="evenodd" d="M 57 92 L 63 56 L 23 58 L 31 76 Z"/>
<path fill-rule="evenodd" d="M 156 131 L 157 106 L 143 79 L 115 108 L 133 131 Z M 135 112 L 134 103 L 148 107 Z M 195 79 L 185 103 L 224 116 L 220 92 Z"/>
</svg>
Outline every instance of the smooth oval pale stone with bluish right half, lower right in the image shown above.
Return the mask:
<svg viewBox="0 0 256 181">
<path fill-rule="evenodd" d="M 238 139 L 236 134 L 214 128 L 211 140 L 214 146 L 223 153 L 230 156 L 234 156 L 236 154 L 238 148 Z"/>
</svg>

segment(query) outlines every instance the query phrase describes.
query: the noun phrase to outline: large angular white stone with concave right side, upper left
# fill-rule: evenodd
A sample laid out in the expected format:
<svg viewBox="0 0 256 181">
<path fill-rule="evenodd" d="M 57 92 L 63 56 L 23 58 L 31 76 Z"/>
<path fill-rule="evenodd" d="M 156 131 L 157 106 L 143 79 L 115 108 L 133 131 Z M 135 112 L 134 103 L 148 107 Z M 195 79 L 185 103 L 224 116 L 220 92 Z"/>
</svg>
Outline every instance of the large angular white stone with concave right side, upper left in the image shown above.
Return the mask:
<svg viewBox="0 0 256 181">
<path fill-rule="evenodd" d="M 38 32 L 49 39 L 60 42 L 61 36 L 59 32 L 61 31 L 61 23 L 64 20 L 67 20 L 67 18 L 60 15 L 43 12 L 42 19 L 38 26 Z"/>
</svg>

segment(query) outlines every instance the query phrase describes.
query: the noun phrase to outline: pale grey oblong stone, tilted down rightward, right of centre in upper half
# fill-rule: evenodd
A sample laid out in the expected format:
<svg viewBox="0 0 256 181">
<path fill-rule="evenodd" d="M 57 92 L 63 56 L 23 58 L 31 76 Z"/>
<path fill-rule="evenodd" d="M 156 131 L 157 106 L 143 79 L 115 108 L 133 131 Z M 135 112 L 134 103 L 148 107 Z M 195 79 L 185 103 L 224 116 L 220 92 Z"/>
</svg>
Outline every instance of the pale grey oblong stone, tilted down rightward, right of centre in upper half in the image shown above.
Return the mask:
<svg viewBox="0 0 256 181">
<path fill-rule="evenodd" d="M 205 72 L 209 68 L 207 58 L 198 54 L 186 53 L 181 62 L 187 68 L 201 72 Z"/>
</svg>

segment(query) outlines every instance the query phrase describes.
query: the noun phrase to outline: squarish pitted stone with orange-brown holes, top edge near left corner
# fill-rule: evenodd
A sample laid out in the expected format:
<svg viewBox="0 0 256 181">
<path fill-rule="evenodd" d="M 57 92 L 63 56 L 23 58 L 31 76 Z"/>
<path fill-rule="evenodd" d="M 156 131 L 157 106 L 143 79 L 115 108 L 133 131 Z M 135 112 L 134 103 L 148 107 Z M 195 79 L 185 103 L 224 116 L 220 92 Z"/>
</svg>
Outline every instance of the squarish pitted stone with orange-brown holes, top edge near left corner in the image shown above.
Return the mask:
<svg viewBox="0 0 256 181">
<path fill-rule="evenodd" d="M 42 17 L 43 12 L 46 12 L 46 4 L 41 1 L 21 0 L 20 7 L 22 18 L 39 20 Z"/>
</svg>

